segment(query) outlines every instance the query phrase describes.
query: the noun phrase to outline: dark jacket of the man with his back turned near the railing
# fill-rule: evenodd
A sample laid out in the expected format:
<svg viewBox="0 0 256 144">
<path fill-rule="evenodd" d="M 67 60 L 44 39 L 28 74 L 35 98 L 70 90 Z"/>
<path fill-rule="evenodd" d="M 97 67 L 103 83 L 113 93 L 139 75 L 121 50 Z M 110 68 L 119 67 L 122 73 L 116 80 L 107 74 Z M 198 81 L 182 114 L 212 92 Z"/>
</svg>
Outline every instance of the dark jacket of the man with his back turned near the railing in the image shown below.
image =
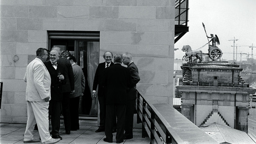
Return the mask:
<svg viewBox="0 0 256 144">
<path fill-rule="evenodd" d="M 126 104 L 130 85 L 131 75 L 128 68 L 119 63 L 106 68 L 103 81 L 106 104 Z"/>
</svg>

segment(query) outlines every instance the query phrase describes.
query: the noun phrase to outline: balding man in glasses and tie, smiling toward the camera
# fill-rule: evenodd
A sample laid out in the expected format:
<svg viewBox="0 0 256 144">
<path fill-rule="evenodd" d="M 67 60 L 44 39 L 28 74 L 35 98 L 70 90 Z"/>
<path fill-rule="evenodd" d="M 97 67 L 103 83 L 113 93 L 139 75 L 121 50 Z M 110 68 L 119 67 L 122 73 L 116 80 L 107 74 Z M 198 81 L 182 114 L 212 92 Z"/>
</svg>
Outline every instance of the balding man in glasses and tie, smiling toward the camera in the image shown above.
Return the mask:
<svg viewBox="0 0 256 144">
<path fill-rule="evenodd" d="M 99 129 L 95 132 L 104 132 L 105 131 L 105 118 L 106 118 L 106 104 L 105 97 L 103 96 L 103 74 L 104 69 L 112 66 L 114 63 L 112 62 L 113 54 L 112 52 L 105 52 L 103 55 L 105 62 L 99 63 L 93 81 L 93 95 L 92 98 L 96 98 L 96 89 L 98 86 L 98 100 L 99 100 Z"/>
</svg>

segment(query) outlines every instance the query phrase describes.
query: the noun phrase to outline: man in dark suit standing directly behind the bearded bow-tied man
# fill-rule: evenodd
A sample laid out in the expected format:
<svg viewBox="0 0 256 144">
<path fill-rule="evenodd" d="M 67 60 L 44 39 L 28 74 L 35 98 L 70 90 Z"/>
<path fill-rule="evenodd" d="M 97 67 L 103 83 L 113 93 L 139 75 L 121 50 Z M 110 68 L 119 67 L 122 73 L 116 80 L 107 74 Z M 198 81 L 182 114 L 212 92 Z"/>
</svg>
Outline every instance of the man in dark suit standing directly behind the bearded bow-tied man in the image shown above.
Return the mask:
<svg viewBox="0 0 256 144">
<path fill-rule="evenodd" d="M 52 50 L 57 50 L 58 55 L 60 55 L 61 50 L 59 47 L 57 46 L 53 46 Z M 65 131 L 66 134 L 70 134 L 70 130 L 71 130 L 71 118 L 70 118 L 70 93 L 74 93 L 75 92 L 75 78 L 74 78 L 74 74 L 73 74 L 73 69 L 72 66 L 69 62 L 69 60 L 67 60 L 67 54 L 70 54 L 68 51 L 65 51 L 65 55 L 64 58 L 59 57 L 58 59 L 58 63 L 60 63 L 62 66 L 64 66 L 64 70 L 65 73 L 67 75 L 64 75 L 67 83 L 65 85 L 62 86 L 62 94 L 63 94 L 63 98 L 61 101 L 61 107 L 62 107 L 62 114 L 63 114 L 63 119 L 64 119 L 64 126 L 65 126 Z M 71 54 L 70 54 L 71 55 Z M 63 55 L 61 55 L 63 56 Z M 73 130 L 79 130 L 79 127 L 77 127 L 76 129 Z"/>
</svg>

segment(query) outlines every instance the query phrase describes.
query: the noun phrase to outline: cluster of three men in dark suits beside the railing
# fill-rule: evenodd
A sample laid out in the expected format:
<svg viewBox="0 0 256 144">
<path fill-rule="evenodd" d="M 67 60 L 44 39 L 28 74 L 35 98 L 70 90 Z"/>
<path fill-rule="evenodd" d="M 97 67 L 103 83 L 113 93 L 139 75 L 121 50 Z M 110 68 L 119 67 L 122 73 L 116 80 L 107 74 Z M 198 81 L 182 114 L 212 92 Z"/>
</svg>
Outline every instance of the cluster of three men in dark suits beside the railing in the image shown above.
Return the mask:
<svg viewBox="0 0 256 144">
<path fill-rule="evenodd" d="M 133 138 L 136 84 L 140 76 L 128 52 L 114 57 L 111 52 L 105 52 L 103 58 L 105 62 L 99 63 L 93 82 L 92 98 L 96 98 L 98 86 L 100 107 L 100 126 L 96 132 L 105 131 L 106 138 L 103 140 L 110 143 L 113 142 L 112 133 L 116 132 L 116 143 L 119 144 L 123 139 Z"/>
</svg>

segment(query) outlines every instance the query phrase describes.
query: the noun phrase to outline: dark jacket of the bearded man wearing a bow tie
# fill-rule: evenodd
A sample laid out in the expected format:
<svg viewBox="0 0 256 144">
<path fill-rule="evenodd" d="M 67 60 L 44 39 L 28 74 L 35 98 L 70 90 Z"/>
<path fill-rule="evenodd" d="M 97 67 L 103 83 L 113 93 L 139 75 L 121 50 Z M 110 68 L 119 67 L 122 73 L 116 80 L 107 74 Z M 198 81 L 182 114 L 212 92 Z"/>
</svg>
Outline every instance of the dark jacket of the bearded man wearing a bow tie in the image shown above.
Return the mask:
<svg viewBox="0 0 256 144">
<path fill-rule="evenodd" d="M 51 101 L 61 101 L 62 100 L 62 85 L 66 84 L 65 68 L 61 63 L 57 61 L 57 69 L 54 69 L 50 60 L 44 62 L 50 76 L 51 76 Z M 64 75 L 64 80 L 59 81 L 58 72 Z"/>
</svg>

